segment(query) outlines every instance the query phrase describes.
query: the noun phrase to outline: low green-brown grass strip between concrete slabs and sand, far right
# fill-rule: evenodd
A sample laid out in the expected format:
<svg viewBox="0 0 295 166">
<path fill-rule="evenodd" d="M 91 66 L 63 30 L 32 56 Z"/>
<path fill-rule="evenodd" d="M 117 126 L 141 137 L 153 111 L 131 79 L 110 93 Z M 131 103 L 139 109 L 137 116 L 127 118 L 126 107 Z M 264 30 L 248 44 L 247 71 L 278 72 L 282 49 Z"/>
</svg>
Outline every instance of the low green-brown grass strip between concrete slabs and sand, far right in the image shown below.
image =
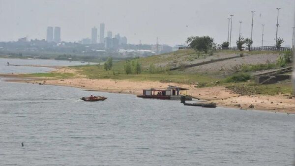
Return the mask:
<svg viewBox="0 0 295 166">
<path fill-rule="evenodd" d="M 235 83 L 227 86 L 227 88 L 241 95 L 276 95 L 292 93 L 292 83 L 290 81 L 266 85 L 257 83 Z"/>
</svg>

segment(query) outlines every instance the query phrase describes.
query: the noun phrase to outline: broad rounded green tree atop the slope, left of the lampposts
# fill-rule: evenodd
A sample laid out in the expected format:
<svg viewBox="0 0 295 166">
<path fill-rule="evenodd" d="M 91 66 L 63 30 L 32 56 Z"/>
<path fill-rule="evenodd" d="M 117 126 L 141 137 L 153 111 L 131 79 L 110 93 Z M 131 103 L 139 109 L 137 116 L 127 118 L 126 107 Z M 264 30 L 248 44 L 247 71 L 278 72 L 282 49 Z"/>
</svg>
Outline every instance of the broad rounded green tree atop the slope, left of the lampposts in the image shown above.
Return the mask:
<svg viewBox="0 0 295 166">
<path fill-rule="evenodd" d="M 214 39 L 209 36 L 191 36 L 187 38 L 186 43 L 196 51 L 204 51 L 207 53 L 208 50 L 213 49 L 213 41 Z"/>
</svg>

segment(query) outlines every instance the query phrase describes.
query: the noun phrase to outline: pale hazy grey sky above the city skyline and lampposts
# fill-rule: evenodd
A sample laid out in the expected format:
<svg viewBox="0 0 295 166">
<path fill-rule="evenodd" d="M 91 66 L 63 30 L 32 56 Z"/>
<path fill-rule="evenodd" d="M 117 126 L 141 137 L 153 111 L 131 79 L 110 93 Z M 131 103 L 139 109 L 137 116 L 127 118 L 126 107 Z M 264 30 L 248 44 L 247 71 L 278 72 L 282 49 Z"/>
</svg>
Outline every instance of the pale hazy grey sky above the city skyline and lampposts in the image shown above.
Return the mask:
<svg viewBox="0 0 295 166">
<path fill-rule="evenodd" d="M 105 23 L 105 33 L 126 36 L 128 43 L 183 44 L 188 36 L 209 35 L 216 43 L 227 40 L 228 19 L 233 17 L 232 43 L 236 45 L 239 21 L 243 37 L 274 45 L 276 8 L 278 36 L 292 44 L 295 0 L 0 0 L 0 41 L 45 39 L 48 26 L 61 27 L 62 41 L 78 41 L 91 35 L 91 28 Z M 98 29 L 99 30 L 99 29 Z M 106 36 L 106 34 L 105 34 Z"/>
</svg>

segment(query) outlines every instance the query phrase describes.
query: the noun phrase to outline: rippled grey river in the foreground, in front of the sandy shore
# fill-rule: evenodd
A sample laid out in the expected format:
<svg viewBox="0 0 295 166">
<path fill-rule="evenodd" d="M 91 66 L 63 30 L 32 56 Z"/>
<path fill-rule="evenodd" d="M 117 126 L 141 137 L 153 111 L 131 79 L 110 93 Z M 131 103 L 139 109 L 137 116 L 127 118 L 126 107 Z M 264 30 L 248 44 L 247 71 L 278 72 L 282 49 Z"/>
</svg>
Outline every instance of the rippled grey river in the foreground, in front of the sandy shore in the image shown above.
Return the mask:
<svg viewBox="0 0 295 166">
<path fill-rule="evenodd" d="M 290 166 L 295 115 L 0 82 L 0 165 Z M 82 96 L 101 95 L 102 102 Z M 24 147 L 21 143 L 24 142 Z"/>
</svg>

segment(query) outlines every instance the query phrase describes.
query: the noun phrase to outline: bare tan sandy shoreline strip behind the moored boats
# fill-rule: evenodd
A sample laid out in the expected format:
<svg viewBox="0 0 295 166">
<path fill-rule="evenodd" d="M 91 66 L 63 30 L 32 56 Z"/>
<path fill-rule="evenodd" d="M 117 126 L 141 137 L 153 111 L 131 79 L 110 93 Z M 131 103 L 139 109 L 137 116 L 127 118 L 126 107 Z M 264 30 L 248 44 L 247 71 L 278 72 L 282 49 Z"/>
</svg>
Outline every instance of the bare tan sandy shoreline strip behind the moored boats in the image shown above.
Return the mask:
<svg viewBox="0 0 295 166">
<path fill-rule="evenodd" d="M 75 70 L 69 68 L 59 68 L 58 73 L 76 73 Z M 56 79 L 56 78 L 39 78 L 24 77 L 18 74 L 0 74 L 0 77 L 7 78 L 6 82 L 17 83 L 34 83 L 45 85 L 70 86 L 86 89 L 89 91 L 101 91 L 110 93 L 123 94 L 142 94 L 146 88 L 166 88 L 168 85 L 175 85 L 189 88 L 182 94 L 191 95 L 201 99 L 201 101 L 216 103 L 219 107 L 233 108 L 240 110 L 259 110 L 270 112 L 282 112 L 295 114 L 295 98 L 289 99 L 287 95 L 248 95 L 242 96 L 231 92 L 223 86 L 196 88 L 190 84 L 179 83 L 160 83 L 152 81 L 131 81 L 131 80 L 111 80 L 111 79 L 87 79 L 82 75 L 75 78 Z M 193 101 L 194 102 L 194 101 Z M 253 105 L 254 108 L 249 108 Z"/>
</svg>

